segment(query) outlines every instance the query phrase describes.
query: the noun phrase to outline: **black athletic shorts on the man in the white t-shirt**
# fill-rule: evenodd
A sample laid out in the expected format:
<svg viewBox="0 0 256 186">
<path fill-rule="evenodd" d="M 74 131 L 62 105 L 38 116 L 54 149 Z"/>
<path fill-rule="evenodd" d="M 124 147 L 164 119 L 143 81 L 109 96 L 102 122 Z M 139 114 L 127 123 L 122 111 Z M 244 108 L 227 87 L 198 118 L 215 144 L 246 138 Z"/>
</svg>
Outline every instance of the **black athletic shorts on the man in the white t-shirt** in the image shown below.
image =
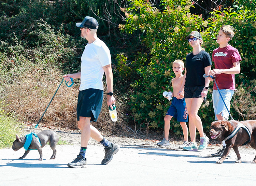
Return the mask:
<svg viewBox="0 0 256 186">
<path fill-rule="evenodd" d="M 89 88 L 79 91 L 77 99 L 77 121 L 79 117 L 90 117 L 91 121 L 97 121 L 103 102 L 103 90 Z"/>
</svg>

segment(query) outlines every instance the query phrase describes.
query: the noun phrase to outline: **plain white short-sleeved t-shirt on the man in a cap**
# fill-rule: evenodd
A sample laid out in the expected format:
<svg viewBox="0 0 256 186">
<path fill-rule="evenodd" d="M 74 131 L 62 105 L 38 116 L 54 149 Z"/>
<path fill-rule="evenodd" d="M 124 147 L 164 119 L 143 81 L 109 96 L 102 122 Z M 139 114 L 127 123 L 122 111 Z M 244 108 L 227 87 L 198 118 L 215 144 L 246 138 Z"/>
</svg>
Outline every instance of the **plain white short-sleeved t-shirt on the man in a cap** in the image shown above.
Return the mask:
<svg viewBox="0 0 256 186">
<path fill-rule="evenodd" d="M 103 67 L 111 64 L 109 48 L 97 38 L 85 46 L 81 57 L 81 85 L 79 90 L 95 88 L 103 90 Z"/>
</svg>

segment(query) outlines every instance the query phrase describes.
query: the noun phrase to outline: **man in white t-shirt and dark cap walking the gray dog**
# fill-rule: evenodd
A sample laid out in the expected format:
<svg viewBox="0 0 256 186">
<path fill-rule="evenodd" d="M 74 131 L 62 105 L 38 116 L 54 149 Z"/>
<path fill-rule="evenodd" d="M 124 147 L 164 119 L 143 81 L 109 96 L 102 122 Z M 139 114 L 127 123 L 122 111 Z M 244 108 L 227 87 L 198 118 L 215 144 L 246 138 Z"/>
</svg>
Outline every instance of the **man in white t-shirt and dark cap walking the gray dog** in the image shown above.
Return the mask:
<svg viewBox="0 0 256 186">
<path fill-rule="evenodd" d="M 86 16 L 82 23 L 76 23 L 81 30 L 81 38 L 88 41 L 81 57 L 81 72 L 64 75 L 64 80 L 70 78 L 81 79 L 77 100 L 77 121 L 81 133 L 81 149 L 74 161 L 68 163 L 70 168 L 86 167 L 85 153 L 89 138 L 92 137 L 105 147 L 105 157 L 101 164 L 109 163 L 113 155 L 119 150 L 119 145 L 106 140 L 100 132 L 90 125 L 91 121 L 97 121 L 103 101 L 103 82 L 105 73 L 107 84 L 107 103 L 113 109 L 115 104 L 113 96 L 113 73 L 111 68 L 111 56 L 109 48 L 97 37 L 99 24 L 93 17 Z"/>
</svg>

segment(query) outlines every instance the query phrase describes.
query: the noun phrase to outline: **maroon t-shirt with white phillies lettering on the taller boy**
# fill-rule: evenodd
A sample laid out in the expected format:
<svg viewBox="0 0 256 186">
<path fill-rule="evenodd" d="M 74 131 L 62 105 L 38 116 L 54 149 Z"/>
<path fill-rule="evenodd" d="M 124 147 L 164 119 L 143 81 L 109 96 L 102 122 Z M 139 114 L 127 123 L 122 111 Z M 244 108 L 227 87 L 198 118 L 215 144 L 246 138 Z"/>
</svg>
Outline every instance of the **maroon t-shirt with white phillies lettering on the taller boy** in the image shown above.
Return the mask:
<svg viewBox="0 0 256 186">
<path fill-rule="evenodd" d="M 218 47 L 212 53 L 212 61 L 214 61 L 215 69 L 230 69 L 234 67 L 234 62 L 241 60 L 238 50 L 231 45 L 223 48 Z M 215 81 L 219 89 L 236 89 L 234 74 L 216 74 Z M 213 89 L 217 89 L 215 83 L 213 84 Z"/>
</svg>

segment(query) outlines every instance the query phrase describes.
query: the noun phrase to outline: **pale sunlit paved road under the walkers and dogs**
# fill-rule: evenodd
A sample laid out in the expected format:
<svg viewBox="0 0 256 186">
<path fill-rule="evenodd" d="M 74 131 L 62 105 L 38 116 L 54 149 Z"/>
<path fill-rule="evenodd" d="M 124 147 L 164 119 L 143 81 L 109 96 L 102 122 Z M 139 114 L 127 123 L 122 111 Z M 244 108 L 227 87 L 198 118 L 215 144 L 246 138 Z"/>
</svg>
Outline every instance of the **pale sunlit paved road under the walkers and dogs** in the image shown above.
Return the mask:
<svg viewBox="0 0 256 186">
<path fill-rule="evenodd" d="M 119 152 L 107 165 L 101 165 L 104 157 L 102 146 L 90 145 L 86 155 L 86 168 L 71 169 L 67 163 L 76 157 L 79 144 L 58 145 L 57 157 L 51 157 L 52 150 L 43 148 L 43 161 L 39 153 L 31 151 L 26 159 L 20 160 L 24 149 L 0 149 L 0 186 L 173 186 L 173 185 L 254 185 L 256 164 L 250 161 L 255 150 L 250 148 L 242 154 L 242 163 L 234 163 L 236 155 L 223 164 L 216 164 L 217 158 L 209 154 L 216 149 L 203 152 L 186 152 L 148 145 L 121 145 Z"/>
</svg>

